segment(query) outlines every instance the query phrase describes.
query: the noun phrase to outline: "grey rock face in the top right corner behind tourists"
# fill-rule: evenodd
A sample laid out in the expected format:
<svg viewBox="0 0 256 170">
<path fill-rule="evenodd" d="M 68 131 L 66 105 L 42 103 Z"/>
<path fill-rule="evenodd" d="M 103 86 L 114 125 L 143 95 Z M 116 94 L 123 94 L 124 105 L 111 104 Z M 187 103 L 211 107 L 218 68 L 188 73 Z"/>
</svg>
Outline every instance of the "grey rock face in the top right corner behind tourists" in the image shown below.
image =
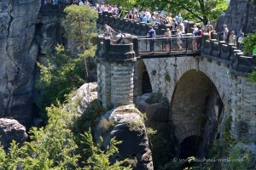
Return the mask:
<svg viewBox="0 0 256 170">
<path fill-rule="evenodd" d="M 221 15 L 216 26 L 216 31 L 222 31 L 222 25 L 227 25 L 230 31 L 236 34 L 255 30 L 256 5 L 251 0 L 230 0 L 229 8 L 225 15 Z"/>
</svg>

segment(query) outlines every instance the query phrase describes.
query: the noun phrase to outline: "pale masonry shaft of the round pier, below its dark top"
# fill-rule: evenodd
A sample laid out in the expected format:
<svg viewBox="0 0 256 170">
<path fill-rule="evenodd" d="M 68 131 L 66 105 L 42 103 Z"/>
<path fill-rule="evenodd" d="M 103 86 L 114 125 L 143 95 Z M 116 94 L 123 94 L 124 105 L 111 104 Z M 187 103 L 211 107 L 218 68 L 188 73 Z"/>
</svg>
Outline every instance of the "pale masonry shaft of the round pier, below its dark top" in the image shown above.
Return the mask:
<svg viewBox="0 0 256 170">
<path fill-rule="evenodd" d="M 98 99 L 103 106 L 133 104 L 134 63 L 99 62 Z"/>
</svg>

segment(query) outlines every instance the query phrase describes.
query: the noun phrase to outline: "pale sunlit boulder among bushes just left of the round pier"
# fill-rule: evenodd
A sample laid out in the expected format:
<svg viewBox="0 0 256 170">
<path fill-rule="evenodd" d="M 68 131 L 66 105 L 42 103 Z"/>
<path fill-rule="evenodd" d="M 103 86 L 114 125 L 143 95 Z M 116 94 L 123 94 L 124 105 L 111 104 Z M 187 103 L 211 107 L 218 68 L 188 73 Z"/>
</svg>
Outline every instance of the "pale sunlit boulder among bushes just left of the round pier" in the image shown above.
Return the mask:
<svg viewBox="0 0 256 170">
<path fill-rule="evenodd" d="M 77 111 L 82 114 L 91 101 L 97 99 L 97 82 L 84 83 L 73 95 L 73 103 L 79 102 Z"/>
</svg>

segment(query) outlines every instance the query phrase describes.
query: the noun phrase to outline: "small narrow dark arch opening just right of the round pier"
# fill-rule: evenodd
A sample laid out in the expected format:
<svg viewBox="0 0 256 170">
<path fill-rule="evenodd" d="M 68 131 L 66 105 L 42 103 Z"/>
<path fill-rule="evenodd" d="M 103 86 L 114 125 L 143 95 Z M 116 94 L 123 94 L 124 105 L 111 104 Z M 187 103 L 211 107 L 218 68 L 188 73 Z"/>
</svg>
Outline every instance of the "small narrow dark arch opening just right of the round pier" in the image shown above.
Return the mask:
<svg viewBox="0 0 256 170">
<path fill-rule="evenodd" d="M 147 94 L 152 92 L 150 77 L 143 59 L 137 63 L 137 94 Z"/>
</svg>

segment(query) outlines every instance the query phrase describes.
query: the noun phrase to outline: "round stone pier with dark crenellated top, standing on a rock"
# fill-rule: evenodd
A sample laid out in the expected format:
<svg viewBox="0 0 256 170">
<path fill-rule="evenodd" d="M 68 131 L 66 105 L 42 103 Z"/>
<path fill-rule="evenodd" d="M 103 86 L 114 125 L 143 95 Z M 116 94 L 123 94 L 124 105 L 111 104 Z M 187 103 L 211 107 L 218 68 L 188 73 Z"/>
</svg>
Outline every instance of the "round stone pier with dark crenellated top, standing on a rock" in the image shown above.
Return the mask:
<svg viewBox="0 0 256 170">
<path fill-rule="evenodd" d="M 133 43 L 112 44 L 110 38 L 105 38 L 104 47 L 100 50 L 102 57 L 97 60 L 98 99 L 103 106 L 133 104 L 137 60 Z"/>
</svg>

